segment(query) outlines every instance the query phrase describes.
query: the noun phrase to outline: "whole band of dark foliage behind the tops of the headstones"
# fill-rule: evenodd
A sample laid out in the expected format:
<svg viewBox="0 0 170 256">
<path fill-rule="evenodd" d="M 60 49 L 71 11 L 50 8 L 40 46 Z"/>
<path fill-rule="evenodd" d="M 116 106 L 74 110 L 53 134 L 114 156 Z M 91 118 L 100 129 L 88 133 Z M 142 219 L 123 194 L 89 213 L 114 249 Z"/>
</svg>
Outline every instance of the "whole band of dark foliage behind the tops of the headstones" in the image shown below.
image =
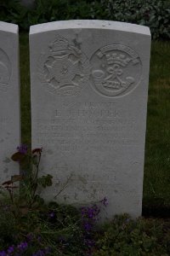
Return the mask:
<svg viewBox="0 0 170 256">
<path fill-rule="evenodd" d="M 32 9 L 19 0 L 1 0 L 0 20 L 21 29 L 54 20 L 117 20 L 150 26 L 152 38 L 170 38 L 170 0 L 36 0 Z"/>
</svg>

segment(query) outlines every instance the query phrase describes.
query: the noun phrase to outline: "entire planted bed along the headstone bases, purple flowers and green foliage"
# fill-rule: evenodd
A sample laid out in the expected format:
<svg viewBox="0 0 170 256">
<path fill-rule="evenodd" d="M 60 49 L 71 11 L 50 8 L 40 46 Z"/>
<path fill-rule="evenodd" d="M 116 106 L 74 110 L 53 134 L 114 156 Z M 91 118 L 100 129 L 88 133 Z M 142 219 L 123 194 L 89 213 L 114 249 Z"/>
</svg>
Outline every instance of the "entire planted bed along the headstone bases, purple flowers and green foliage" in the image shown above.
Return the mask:
<svg viewBox="0 0 170 256">
<path fill-rule="evenodd" d="M 1 186 L 0 256 L 170 254 L 168 219 L 132 219 L 123 214 L 99 224 L 106 198 L 79 209 L 56 201 L 45 203 L 37 191 L 51 186 L 53 177 L 39 177 L 42 148 L 17 149 L 12 160 L 29 168 Z"/>
</svg>

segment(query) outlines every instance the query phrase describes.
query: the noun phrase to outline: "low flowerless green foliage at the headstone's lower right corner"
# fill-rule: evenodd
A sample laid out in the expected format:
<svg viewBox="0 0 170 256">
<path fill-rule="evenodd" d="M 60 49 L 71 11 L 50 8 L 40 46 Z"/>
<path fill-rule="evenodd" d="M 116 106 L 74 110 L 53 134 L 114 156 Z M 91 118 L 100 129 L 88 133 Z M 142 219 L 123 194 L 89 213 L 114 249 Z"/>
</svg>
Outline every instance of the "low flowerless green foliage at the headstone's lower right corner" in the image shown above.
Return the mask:
<svg viewBox="0 0 170 256">
<path fill-rule="evenodd" d="M 167 228 L 167 229 L 166 229 Z M 97 236 L 94 256 L 152 255 L 170 253 L 168 222 L 158 219 L 132 220 L 127 214 L 116 216 Z"/>
</svg>

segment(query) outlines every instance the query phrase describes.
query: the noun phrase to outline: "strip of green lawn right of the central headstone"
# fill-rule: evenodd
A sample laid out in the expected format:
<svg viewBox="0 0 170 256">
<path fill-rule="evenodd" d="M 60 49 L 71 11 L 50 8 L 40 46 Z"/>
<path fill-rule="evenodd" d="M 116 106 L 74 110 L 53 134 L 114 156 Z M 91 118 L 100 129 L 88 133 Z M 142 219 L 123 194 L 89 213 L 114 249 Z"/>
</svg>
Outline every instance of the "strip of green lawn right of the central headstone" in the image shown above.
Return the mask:
<svg viewBox="0 0 170 256">
<path fill-rule="evenodd" d="M 143 205 L 170 207 L 170 42 L 152 42 Z"/>
</svg>

